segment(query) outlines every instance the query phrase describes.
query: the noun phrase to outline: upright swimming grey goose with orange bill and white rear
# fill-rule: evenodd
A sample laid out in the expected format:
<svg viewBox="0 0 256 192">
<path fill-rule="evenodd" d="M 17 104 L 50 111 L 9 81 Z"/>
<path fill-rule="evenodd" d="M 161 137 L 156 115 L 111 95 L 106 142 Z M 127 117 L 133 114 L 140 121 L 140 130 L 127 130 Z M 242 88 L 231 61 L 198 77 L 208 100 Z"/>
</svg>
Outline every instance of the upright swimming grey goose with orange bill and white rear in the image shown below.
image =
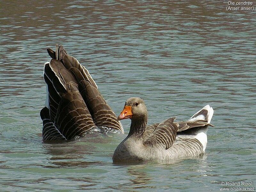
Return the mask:
<svg viewBox="0 0 256 192">
<path fill-rule="evenodd" d="M 148 111 L 139 97 L 129 98 L 118 120 L 131 119 L 128 136 L 117 146 L 113 162 L 161 161 L 201 156 L 207 143 L 207 127 L 213 109 L 206 105 L 188 121 L 174 122 L 176 118 L 147 126 Z"/>
</svg>

